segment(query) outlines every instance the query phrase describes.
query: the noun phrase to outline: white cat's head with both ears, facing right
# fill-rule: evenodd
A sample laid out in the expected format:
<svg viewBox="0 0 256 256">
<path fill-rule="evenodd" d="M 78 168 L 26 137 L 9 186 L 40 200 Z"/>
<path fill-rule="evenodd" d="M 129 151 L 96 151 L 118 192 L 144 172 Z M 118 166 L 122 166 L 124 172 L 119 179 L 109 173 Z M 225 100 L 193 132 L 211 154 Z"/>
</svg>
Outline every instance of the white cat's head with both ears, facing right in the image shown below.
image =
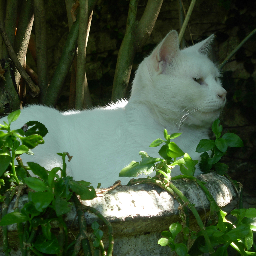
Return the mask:
<svg viewBox="0 0 256 256">
<path fill-rule="evenodd" d="M 138 96 L 162 123 L 209 126 L 226 102 L 220 73 L 207 56 L 213 38 L 180 50 L 177 32 L 169 32 L 138 68 L 131 98 Z"/>
</svg>

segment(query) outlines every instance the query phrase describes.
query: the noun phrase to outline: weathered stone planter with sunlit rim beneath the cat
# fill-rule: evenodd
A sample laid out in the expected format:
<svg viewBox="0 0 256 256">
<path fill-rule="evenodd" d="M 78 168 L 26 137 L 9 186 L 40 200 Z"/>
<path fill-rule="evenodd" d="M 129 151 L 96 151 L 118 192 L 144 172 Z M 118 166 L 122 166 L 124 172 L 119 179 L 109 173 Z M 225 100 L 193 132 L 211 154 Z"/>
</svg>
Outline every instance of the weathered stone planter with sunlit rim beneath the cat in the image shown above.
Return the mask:
<svg viewBox="0 0 256 256">
<path fill-rule="evenodd" d="M 235 199 L 235 190 L 225 177 L 209 173 L 201 175 L 199 178 L 205 182 L 220 207 L 229 205 Z M 205 218 L 209 212 L 209 202 L 200 187 L 188 180 L 178 180 L 173 183 L 195 205 L 202 218 Z M 20 207 L 26 200 L 26 196 L 24 196 L 20 201 Z M 115 238 L 114 255 L 172 255 L 169 248 L 157 244 L 161 237 L 161 231 L 168 230 L 171 223 L 180 221 L 179 211 L 182 210 L 182 207 L 168 192 L 149 184 L 119 186 L 101 197 L 82 203 L 96 208 L 111 222 Z M 13 204 L 14 202 L 9 211 L 12 210 Z M 230 211 L 232 208 L 228 210 Z M 85 216 L 88 225 L 94 221 L 103 224 L 92 213 L 85 213 Z M 73 208 L 67 215 L 66 221 L 69 226 L 72 225 L 73 228 L 78 229 L 76 217 Z M 190 224 L 191 228 L 196 229 L 196 223 L 192 216 Z M 9 227 L 9 230 L 14 231 L 15 226 Z M 108 231 L 104 225 L 102 230 L 104 244 L 107 246 Z M 0 253 L 0 255 L 3 254 Z"/>
</svg>

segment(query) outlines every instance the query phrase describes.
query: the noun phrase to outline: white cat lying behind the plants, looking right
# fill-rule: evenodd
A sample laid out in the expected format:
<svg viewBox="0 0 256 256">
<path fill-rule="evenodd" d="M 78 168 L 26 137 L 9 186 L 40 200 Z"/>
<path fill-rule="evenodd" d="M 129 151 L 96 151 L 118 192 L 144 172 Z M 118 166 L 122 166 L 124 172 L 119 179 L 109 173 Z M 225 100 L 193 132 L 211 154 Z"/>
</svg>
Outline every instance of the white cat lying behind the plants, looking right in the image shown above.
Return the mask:
<svg viewBox="0 0 256 256">
<path fill-rule="evenodd" d="M 158 157 L 159 148 L 149 145 L 163 138 L 164 129 L 169 134 L 182 132 L 175 142 L 192 159 L 199 159 L 196 146 L 200 139 L 208 138 L 209 127 L 226 101 L 219 71 L 207 57 L 212 40 L 213 35 L 179 50 L 177 32 L 169 32 L 140 64 L 129 101 L 81 112 L 25 108 L 12 129 L 35 120 L 49 133 L 45 144 L 33 150 L 34 156 L 24 156 L 23 161 L 37 162 L 50 170 L 62 164 L 57 152 L 69 152 L 73 158 L 68 175 L 108 187 L 120 179 L 123 167 L 141 160 L 139 151 Z M 175 168 L 172 175 L 178 174 Z M 121 178 L 123 184 L 128 180 Z"/>
</svg>

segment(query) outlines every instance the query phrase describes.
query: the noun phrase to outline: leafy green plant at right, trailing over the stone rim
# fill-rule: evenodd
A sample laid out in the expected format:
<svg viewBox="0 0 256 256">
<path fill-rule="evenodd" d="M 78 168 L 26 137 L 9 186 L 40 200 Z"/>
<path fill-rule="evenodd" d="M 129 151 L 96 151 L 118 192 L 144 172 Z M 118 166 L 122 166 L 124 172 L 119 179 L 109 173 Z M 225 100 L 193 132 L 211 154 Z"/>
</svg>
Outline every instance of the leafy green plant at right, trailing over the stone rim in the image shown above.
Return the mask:
<svg viewBox="0 0 256 256">
<path fill-rule="evenodd" d="M 215 135 L 215 140 L 203 139 L 199 142 L 196 151 L 201 154 L 201 162 L 199 163 L 204 172 L 209 172 L 212 167 L 217 173 L 224 174 L 227 171 L 227 166 L 219 163 L 221 157 L 226 153 L 228 147 L 242 147 L 243 142 L 234 133 L 226 133 L 222 136 L 222 126 L 217 119 L 212 125 L 212 130 Z M 194 161 L 191 157 L 184 153 L 173 141 L 180 136 L 180 133 L 169 135 L 164 131 L 165 140 L 157 139 L 153 141 L 150 147 L 157 147 L 161 144 L 159 150 L 161 158 L 152 158 L 146 152 L 141 151 L 141 162 L 131 162 L 126 168 L 120 172 L 120 176 L 135 177 L 141 173 L 150 174 L 155 171 L 156 175 L 152 178 L 132 180 L 130 183 L 151 183 L 160 186 L 167 190 L 183 205 L 183 208 L 189 208 L 194 214 L 200 231 L 194 232 L 183 221 L 182 223 L 172 223 L 169 231 L 163 231 L 163 238 L 159 239 L 158 243 L 161 246 L 169 246 L 172 251 L 175 251 L 179 256 L 201 255 L 202 253 L 210 253 L 212 255 L 226 256 L 227 247 L 234 247 L 241 255 L 256 255 L 256 247 L 253 244 L 253 233 L 256 227 L 251 225 L 252 218 L 256 217 L 256 209 L 237 209 L 231 212 L 237 217 L 235 222 L 228 221 L 226 213 L 220 210 L 219 206 L 210 195 L 204 184 L 193 177 L 195 165 L 198 161 Z M 182 157 L 183 156 L 183 157 Z M 171 169 L 180 166 L 182 175 L 171 177 Z M 170 179 L 171 178 L 171 179 Z M 216 225 L 205 227 L 195 207 L 189 200 L 178 190 L 171 180 L 187 178 L 197 182 L 197 184 L 205 192 L 210 201 L 210 212 L 218 216 Z M 177 197 L 178 196 L 178 197 Z M 188 240 L 195 240 L 192 248 L 188 248 Z M 249 251 L 253 248 L 253 251 Z"/>
</svg>

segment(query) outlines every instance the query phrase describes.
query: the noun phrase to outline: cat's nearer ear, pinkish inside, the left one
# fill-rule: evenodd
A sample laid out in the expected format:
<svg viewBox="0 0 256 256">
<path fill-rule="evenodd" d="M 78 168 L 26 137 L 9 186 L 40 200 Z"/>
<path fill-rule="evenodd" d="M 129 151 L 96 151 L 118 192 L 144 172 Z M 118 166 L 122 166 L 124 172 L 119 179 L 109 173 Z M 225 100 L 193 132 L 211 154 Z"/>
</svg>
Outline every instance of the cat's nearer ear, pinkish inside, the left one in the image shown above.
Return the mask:
<svg viewBox="0 0 256 256">
<path fill-rule="evenodd" d="M 150 55 L 150 62 L 157 73 L 163 73 L 166 67 L 179 54 L 179 36 L 177 31 L 170 31 Z"/>
</svg>

